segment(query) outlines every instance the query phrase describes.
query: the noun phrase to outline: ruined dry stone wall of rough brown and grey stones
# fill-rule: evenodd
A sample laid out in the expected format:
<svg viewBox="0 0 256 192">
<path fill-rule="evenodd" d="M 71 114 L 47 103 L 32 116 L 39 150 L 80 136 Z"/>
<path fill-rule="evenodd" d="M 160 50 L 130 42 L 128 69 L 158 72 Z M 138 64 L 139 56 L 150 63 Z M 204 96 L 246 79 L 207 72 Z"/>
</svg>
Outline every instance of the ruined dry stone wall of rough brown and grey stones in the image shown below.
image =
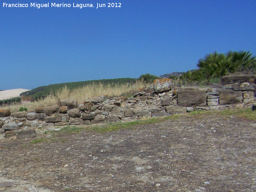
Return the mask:
<svg viewBox="0 0 256 192">
<path fill-rule="evenodd" d="M 236 79 L 236 81 L 234 80 Z M 35 112 L 0 110 L 0 140 L 36 137 L 36 131 L 59 130 L 64 125 L 90 125 L 161 117 L 194 110 L 251 108 L 255 103 L 254 76 L 223 77 L 221 88 L 172 87 L 171 79 L 156 79 L 132 98 L 100 96 L 83 104 L 65 99 Z M 228 83 L 228 84 L 227 84 Z"/>
</svg>

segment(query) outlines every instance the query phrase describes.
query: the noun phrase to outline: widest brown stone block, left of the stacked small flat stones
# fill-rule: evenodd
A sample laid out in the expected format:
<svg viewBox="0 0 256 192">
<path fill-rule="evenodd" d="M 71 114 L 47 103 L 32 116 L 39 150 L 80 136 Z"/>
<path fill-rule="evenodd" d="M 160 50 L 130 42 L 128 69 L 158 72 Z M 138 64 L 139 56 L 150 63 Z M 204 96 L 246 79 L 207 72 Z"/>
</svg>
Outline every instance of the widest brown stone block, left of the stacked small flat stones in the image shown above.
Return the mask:
<svg viewBox="0 0 256 192">
<path fill-rule="evenodd" d="M 184 107 L 206 106 L 206 89 L 185 89 L 178 92 L 177 104 Z"/>
</svg>

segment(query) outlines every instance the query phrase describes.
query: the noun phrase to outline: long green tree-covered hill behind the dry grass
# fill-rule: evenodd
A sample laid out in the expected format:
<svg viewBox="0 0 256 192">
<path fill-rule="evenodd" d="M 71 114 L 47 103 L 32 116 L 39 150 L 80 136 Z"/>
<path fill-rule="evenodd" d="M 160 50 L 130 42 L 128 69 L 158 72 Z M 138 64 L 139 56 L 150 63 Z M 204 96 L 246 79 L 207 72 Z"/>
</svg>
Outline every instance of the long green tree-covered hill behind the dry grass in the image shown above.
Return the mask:
<svg viewBox="0 0 256 192">
<path fill-rule="evenodd" d="M 92 81 L 80 81 L 80 82 L 72 82 L 72 83 L 61 83 L 61 84 L 52 84 L 47 86 L 37 87 L 30 91 L 20 93 L 20 96 L 32 96 L 32 97 L 40 97 L 49 95 L 50 92 L 56 92 L 57 90 L 63 88 L 65 85 L 69 89 L 74 89 L 78 87 L 83 87 L 88 84 L 125 84 L 125 83 L 133 83 L 136 81 L 136 78 L 119 78 L 119 79 L 101 79 L 101 80 L 92 80 Z"/>
</svg>

